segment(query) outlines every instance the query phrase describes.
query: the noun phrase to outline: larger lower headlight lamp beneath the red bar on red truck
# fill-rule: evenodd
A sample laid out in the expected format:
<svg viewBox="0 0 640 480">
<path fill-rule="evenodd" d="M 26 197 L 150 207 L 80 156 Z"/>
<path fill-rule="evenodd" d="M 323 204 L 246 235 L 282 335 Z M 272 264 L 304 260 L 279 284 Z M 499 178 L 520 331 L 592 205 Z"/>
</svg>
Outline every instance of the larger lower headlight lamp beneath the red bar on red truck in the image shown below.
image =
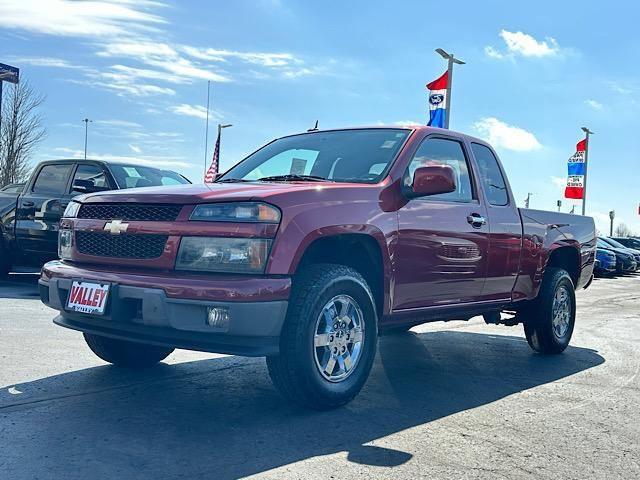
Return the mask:
<svg viewBox="0 0 640 480">
<path fill-rule="evenodd" d="M 267 238 L 183 237 L 176 270 L 262 273 L 270 246 Z"/>
</svg>

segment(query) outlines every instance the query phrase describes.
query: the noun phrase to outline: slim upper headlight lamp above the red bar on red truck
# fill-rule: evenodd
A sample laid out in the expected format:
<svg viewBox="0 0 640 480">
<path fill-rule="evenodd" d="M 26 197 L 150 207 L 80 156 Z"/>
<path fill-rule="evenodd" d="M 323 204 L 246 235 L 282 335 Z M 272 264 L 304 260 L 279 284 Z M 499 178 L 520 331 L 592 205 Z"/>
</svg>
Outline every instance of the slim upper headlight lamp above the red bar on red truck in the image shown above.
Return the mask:
<svg viewBox="0 0 640 480">
<path fill-rule="evenodd" d="M 278 223 L 280 210 L 260 202 L 209 203 L 194 208 L 190 220 Z"/>
</svg>

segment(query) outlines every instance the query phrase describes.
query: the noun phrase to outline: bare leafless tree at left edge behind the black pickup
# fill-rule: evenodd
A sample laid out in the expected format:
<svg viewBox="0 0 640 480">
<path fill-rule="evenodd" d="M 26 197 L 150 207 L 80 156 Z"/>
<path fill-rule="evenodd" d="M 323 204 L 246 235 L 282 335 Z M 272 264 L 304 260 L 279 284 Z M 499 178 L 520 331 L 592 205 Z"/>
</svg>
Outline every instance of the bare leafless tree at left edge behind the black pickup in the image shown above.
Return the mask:
<svg viewBox="0 0 640 480">
<path fill-rule="evenodd" d="M 44 95 L 36 93 L 26 81 L 5 92 L 0 131 L 0 187 L 27 176 L 31 154 L 46 136 L 43 118 L 38 113 Z"/>
</svg>

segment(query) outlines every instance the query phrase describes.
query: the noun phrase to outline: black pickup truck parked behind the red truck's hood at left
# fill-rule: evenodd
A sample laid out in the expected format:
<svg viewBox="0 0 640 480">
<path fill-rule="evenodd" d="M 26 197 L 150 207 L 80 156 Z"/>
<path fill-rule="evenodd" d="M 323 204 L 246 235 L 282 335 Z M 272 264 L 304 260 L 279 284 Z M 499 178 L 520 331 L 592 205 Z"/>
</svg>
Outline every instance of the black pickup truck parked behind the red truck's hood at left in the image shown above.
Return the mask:
<svg viewBox="0 0 640 480">
<path fill-rule="evenodd" d="M 58 223 L 79 194 L 189 183 L 170 170 L 97 160 L 40 163 L 19 190 L 0 192 L 0 275 L 58 258 Z"/>
</svg>

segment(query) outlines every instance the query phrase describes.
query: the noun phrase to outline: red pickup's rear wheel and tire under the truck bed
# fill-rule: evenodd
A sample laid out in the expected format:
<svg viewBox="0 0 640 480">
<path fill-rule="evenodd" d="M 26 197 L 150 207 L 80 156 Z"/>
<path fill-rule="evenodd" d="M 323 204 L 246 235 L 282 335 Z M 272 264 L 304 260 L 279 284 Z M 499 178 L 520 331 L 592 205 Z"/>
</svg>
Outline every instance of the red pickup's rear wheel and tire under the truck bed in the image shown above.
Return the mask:
<svg viewBox="0 0 640 480">
<path fill-rule="evenodd" d="M 561 269 L 547 269 L 538 297 L 523 312 L 529 346 L 543 354 L 562 353 L 571 340 L 576 320 L 573 281 Z"/>
</svg>

